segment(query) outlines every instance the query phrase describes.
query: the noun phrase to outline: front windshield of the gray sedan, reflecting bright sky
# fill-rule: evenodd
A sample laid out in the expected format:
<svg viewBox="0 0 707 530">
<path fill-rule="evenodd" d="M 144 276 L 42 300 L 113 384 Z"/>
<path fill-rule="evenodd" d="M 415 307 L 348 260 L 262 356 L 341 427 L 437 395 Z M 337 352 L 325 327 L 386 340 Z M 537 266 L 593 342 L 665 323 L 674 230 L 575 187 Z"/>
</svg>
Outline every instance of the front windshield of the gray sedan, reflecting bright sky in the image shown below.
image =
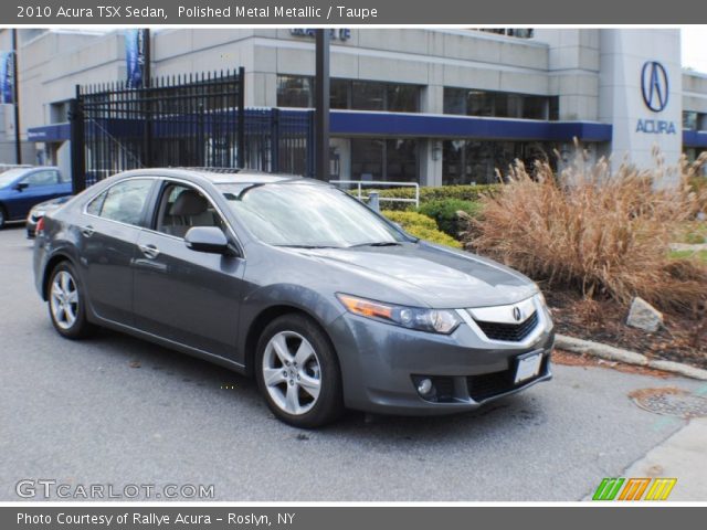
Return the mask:
<svg viewBox="0 0 707 530">
<path fill-rule="evenodd" d="M 365 204 L 310 183 L 219 184 L 241 223 L 276 246 L 347 247 L 407 241 Z"/>
</svg>

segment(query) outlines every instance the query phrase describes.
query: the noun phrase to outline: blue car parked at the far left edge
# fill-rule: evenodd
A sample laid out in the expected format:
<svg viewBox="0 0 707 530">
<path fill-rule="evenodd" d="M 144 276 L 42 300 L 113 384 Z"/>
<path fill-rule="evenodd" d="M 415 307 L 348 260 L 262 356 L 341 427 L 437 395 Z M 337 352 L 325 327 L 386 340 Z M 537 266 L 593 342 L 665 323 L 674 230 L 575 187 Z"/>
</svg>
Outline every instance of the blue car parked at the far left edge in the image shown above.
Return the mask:
<svg viewBox="0 0 707 530">
<path fill-rule="evenodd" d="M 24 220 L 35 204 L 71 193 L 71 179 L 55 167 L 13 168 L 0 173 L 0 229 L 8 221 Z"/>
</svg>

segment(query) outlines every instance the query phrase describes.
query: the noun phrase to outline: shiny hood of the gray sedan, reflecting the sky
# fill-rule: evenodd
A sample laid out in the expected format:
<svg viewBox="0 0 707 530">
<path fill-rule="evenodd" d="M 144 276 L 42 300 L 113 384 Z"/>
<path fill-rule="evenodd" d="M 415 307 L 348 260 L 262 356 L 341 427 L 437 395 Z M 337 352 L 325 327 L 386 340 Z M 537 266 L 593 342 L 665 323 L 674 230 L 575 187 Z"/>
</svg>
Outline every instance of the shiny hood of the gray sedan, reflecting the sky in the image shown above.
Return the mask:
<svg viewBox="0 0 707 530">
<path fill-rule="evenodd" d="M 515 304 L 537 293 L 530 279 L 508 267 L 474 254 L 424 242 L 300 252 L 383 283 L 421 305 L 439 309 Z M 350 294 L 365 296 L 354 287 Z"/>
</svg>

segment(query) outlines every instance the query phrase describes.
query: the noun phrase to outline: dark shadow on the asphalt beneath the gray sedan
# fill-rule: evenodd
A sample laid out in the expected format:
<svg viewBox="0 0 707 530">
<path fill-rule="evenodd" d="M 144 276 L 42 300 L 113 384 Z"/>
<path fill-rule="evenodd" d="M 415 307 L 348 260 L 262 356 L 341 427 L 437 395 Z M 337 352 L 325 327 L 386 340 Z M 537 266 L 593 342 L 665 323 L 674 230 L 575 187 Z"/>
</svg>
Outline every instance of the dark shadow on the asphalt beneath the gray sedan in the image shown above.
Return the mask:
<svg viewBox="0 0 707 530">
<path fill-rule="evenodd" d="M 163 348 L 131 336 L 101 329 L 91 342 L 110 343 L 110 356 L 123 356 L 122 362 L 131 368 L 151 372 L 158 378 L 173 379 L 177 384 L 196 385 L 202 392 L 213 392 L 222 398 L 229 391 L 229 400 L 238 400 L 238 406 L 251 410 L 263 422 L 273 422 L 284 435 L 298 441 L 348 438 L 362 443 L 374 441 L 395 442 L 389 451 L 405 451 L 407 444 L 456 443 L 465 439 L 503 435 L 516 432 L 519 424 L 540 428 L 546 423 L 541 399 L 532 391 L 514 394 L 472 412 L 441 416 L 399 416 L 366 414 L 346 411 L 335 423 L 318 430 L 299 430 L 278 422 L 267 410 L 254 379 L 239 374 L 208 361 Z M 221 393 L 221 394 L 220 394 Z M 252 417 L 251 417 L 252 420 Z M 238 418 L 230 418 L 238 421 Z M 288 432 L 289 431 L 289 432 Z"/>
</svg>

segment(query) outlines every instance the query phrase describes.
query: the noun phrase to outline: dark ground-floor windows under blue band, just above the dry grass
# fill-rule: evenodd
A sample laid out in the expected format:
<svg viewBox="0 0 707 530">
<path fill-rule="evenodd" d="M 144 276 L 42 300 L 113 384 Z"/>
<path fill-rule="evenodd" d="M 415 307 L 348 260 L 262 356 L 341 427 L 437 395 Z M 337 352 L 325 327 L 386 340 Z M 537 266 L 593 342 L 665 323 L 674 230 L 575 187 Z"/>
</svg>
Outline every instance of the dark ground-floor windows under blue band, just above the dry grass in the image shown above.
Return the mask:
<svg viewBox="0 0 707 530">
<path fill-rule="evenodd" d="M 498 182 L 496 170 L 507 174 L 516 159 L 528 170 L 536 160 L 548 161 L 556 168 L 553 149 L 553 145 L 540 141 L 446 140 L 442 146 L 442 183 Z"/>
</svg>

